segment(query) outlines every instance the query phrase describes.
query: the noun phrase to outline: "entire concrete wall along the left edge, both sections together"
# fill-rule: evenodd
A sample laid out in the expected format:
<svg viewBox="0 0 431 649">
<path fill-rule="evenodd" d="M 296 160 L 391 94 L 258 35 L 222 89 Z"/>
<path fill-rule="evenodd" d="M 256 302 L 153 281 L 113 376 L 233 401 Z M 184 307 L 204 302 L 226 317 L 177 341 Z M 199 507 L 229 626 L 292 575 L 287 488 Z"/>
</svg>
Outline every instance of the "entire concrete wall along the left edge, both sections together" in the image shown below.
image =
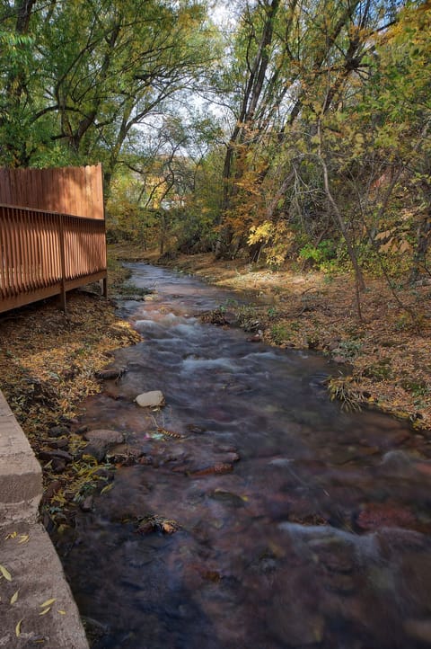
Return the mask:
<svg viewBox="0 0 431 649">
<path fill-rule="evenodd" d="M 0 648 L 88 649 L 63 567 L 38 522 L 41 495 L 40 464 L 0 392 Z"/>
</svg>

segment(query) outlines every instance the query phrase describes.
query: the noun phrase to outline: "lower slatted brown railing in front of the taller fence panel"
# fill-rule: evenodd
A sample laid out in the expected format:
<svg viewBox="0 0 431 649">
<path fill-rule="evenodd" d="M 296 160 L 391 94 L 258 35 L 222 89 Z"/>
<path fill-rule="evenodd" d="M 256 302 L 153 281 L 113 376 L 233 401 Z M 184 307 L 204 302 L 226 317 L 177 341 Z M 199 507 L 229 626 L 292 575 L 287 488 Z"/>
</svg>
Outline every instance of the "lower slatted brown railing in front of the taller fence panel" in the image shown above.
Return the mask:
<svg viewBox="0 0 431 649">
<path fill-rule="evenodd" d="M 0 204 L 0 312 L 106 279 L 104 220 Z"/>
</svg>

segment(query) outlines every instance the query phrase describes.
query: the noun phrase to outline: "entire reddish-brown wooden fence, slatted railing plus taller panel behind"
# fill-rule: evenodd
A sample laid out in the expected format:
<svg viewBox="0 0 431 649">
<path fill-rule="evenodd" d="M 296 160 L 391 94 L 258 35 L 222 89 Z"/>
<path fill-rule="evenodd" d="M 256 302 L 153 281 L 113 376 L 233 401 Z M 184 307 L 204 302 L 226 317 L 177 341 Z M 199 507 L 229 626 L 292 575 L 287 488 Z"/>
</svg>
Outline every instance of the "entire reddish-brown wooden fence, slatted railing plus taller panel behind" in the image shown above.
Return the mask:
<svg viewBox="0 0 431 649">
<path fill-rule="evenodd" d="M 97 280 L 103 280 L 106 296 L 100 165 L 0 170 L 0 200 L 0 312 L 57 294 L 66 309 L 67 290 Z M 24 201 L 31 205 L 20 205 Z"/>
</svg>

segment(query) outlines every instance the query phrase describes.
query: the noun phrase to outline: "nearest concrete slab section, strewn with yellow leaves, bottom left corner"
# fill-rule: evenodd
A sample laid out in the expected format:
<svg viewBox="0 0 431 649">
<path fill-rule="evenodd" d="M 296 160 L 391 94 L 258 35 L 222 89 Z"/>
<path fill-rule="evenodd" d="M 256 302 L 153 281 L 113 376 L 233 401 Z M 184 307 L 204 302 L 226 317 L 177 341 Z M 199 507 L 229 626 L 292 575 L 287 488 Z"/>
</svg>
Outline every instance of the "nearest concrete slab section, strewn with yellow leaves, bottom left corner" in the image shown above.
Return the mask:
<svg viewBox="0 0 431 649">
<path fill-rule="evenodd" d="M 0 565 L 12 580 L 5 579 L 0 567 L 0 647 L 88 649 L 60 560 L 39 523 L 1 529 Z M 55 601 L 41 606 L 49 600 Z"/>
</svg>

